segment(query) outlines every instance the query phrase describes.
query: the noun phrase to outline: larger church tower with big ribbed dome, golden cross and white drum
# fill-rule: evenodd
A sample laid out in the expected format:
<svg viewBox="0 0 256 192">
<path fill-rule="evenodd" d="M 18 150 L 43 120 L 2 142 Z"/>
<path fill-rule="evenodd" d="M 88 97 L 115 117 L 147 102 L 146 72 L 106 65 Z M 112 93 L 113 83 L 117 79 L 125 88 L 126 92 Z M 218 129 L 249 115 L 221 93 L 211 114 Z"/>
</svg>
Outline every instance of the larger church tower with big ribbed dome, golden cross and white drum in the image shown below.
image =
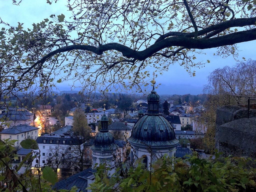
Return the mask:
<svg viewBox="0 0 256 192">
<path fill-rule="evenodd" d="M 147 169 L 150 169 L 151 159 L 153 163 L 164 154 L 175 156 L 179 143 L 174 127 L 159 114 L 159 95 L 155 91 L 155 80 L 152 83 L 153 90 L 147 97 L 148 112 L 134 125 L 128 139 L 131 144 L 131 161 L 143 157 Z"/>
</svg>

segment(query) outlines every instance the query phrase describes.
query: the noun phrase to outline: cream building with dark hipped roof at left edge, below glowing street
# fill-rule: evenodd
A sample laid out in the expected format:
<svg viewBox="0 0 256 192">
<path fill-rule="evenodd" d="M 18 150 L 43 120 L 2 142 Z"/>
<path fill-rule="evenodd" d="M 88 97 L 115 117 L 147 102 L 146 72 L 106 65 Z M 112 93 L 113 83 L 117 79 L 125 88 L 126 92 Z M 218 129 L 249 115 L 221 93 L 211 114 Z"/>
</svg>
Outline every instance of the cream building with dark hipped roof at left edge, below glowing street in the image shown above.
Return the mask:
<svg viewBox="0 0 256 192">
<path fill-rule="evenodd" d="M 9 138 L 10 140 L 18 140 L 14 143 L 14 146 L 20 148 L 20 142 L 26 138 L 37 139 L 38 128 L 29 125 L 17 125 L 1 131 L 0 134 L 2 140 Z"/>
</svg>

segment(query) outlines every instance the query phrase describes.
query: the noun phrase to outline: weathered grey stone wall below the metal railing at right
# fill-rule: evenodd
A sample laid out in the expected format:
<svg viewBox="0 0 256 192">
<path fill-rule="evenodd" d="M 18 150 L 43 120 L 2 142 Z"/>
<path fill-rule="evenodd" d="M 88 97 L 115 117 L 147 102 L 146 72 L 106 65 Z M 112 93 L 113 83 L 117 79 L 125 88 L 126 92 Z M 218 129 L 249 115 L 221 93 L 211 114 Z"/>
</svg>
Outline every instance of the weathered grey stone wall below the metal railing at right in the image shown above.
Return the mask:
<svg viewBox="0 0 256 192">
<path fill-rule="evenodd" d="M 217 109 L 216 148 L 224 155 L 256 157 L 256 110 L 226 105 Z"/>
</svg>

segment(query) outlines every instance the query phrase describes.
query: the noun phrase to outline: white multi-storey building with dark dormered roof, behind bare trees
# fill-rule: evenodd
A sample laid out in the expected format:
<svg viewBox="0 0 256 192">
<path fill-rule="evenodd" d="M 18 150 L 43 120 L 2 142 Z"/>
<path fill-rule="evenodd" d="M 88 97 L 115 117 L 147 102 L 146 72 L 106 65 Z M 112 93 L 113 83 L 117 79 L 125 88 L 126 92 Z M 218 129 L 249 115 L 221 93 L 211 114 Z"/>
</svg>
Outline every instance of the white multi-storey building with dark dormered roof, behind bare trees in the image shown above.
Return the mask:
<svg viewBox="0 0 256 192">
<path fill-rule="evenodd" d="M 65 126 L 52 134 L 45 134 L 37 138 L 39 150 L 35 150 L 37 157 L 34 158 L 31 166 L 34 174 L 37 174 L 36 167 L 42 167 L 46 164 L 57 169 L 58 177 L 60 177 L 63 168 L 68 170 L 67 174 L 70 175 L 78 172 L 73 161 L 77 160 L 76 150 L 78 150 L 79 145 L 83 149 L 84 141 L 79 137 L 72 136 L 72 128 L 72 126 Z"/>
</svg>

